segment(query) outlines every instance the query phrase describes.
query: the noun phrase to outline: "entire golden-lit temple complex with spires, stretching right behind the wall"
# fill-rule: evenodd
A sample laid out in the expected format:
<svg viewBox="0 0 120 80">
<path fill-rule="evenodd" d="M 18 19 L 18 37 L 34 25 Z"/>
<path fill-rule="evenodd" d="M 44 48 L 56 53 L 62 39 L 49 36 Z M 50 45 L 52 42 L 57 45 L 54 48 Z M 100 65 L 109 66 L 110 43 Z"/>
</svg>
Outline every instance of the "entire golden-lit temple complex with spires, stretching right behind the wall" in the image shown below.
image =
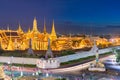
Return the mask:
<svg viewBox="0 0 120 80">
<path fill-rule="evenodd" d="M 31 48 L 33 50 L 47 50 L 48 38 L 51 41 L 51 48 L 55 51 L 67 49 L 80 49 L 91 47 L 93 45 L 90 37 L 57 37 L 54 21 L 52 22 L 51 33 L 46 31 L 46 23 L 44 21 L 43 32 L 38 30 L 37 20 L 34 18 L 32 30 L 29 28 L 27 32 L 22 30 L 21 25 L 18 25 L 17 30 L 0 30 L 0 48 L 3 50 L 27 50 L 29 41 L 31 40 Z M 108 45 L 110 42 L 107 39 L 96 38 L 97 45 Z"/>
</svg>

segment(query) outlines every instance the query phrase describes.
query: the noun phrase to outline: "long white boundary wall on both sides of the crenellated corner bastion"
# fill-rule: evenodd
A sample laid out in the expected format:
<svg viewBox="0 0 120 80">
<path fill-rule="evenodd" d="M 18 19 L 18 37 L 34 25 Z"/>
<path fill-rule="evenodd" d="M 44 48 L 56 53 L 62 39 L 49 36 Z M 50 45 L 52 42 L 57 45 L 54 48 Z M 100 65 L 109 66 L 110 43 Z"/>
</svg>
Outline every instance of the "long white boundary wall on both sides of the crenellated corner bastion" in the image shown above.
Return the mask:
<svg viewBox="0 0 120 80">
<path fill-rule="evenodd" d="M 116 47 L 116 48 L 118 48 L 118 47 Z M 110 52 L 110 51 L 112 51 L 112 48 L 101 49 L 101 50 L 99 50 L 99 54 L 104 54 L 104 53 Z M 61 63 L 61 62 L 67 62 L 70 60 L 75 60 L 75 59 L 84 58 L 84 57 L 93 56 L 93 55 L 95 55 L 95 54 L 92 51 L 85 51 L 85 52 L 76 52 L 76 54 L 62 56 L 62 57 L 56 57 L 56 58 Z M 0 56 L 0 62 L 3 62 L 3 63 L 12 62 L 12 63 L 18 63 L 18 64 L 34 64 L 34 65 L 36 65 L 37 60 L 39 60 L 39 59 L 20 58 L 20 57 L 12 58 L 12 57 Z"/>
</svg>

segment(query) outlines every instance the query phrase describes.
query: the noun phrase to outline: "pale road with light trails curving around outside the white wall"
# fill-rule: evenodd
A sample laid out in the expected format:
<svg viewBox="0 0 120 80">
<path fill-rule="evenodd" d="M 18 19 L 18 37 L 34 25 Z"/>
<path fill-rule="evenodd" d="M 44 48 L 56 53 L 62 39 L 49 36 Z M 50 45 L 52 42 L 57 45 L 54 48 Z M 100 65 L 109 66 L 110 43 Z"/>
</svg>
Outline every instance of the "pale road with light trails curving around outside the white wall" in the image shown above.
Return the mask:
<svg viewBox="0 0 120 80">
<path fill-rule="evenodd" d="M 106 56 L 106 57 L 103 57 L 103 58 L 100 58 L 100 61 L 104 61 L 108 58 L 114 58 L 115 55 L 110 55 L 110 56 Z M 45 69 L 45 70 L 41 70 L 42 73 L 71 73 L 71 72 L 76 72 L 76 71 L 80 71 L 80 70 L 84 70 L 84 69 L 87 69 L 89 67 L 89 64 L 90 63 L 93 63 L 95 62 L 94 61 L 89 61 L 87 63 L 82 63 L 82 64 L 79 64 L 79 65 L 75 65 L 75 66 L 72 66 L 72 67 L 67 67 L 67 68 L 58 68 L 58 69 Z M 4 69 L 7 69 L 9 70 L 10 67 L 8 66 L 4 66 Z M 38 71 L 36 68 L 25 68 L 25 67 L 12 67 L 12 70 L 13 71 L 27 71 L 27 72 L 36 72 Z"/>
</svg>

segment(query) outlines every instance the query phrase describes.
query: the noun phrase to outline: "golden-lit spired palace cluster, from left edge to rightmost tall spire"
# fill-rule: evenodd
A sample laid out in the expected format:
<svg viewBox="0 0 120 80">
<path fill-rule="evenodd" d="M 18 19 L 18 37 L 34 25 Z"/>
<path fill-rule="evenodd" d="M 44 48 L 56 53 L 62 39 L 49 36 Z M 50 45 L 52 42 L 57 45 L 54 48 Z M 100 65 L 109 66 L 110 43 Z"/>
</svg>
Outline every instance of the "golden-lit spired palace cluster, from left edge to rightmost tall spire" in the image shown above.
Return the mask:
<svg viewBox="0 0 120 80">
<path fill-rule="evenodd" d="M 19 24 L 18 30 L 0 30 L 0 45 L 3 50 L 26 50 L 29 48 L 29 40 L 31 39 L 33 50 L 47 50 L 48 38 L 51 41 L 57 39 L 54 21 L 51 33 L 47 33 L 44 21 L 43 33 L 38 30 L 37 20 L 34 18 L 33 29 L 24 32 Z M 54 49 L 53 49 L 54 50 Z"/>
</svg>

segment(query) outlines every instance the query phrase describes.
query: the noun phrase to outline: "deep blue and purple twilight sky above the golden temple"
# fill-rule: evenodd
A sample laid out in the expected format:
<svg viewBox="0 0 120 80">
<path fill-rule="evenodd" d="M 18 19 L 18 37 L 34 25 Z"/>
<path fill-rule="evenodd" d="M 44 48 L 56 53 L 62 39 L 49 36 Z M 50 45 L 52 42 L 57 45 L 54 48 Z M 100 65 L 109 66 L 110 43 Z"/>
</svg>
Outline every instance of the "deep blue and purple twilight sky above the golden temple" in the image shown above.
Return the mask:
<svg viewBox="0 0 120 80">
<path fill-rule="evenodd" d="M 103 32 L 108 25 L 108 33 L 116 32 L 120 28 L 120 0 L 0 0 L 1 29 L 8 25 L 17 29 L 20 23 L 27 30 L 35 16 L 40 31 L 45 17 L 48 32 L 53 19 L 59 33 Z"/>
</svg>

